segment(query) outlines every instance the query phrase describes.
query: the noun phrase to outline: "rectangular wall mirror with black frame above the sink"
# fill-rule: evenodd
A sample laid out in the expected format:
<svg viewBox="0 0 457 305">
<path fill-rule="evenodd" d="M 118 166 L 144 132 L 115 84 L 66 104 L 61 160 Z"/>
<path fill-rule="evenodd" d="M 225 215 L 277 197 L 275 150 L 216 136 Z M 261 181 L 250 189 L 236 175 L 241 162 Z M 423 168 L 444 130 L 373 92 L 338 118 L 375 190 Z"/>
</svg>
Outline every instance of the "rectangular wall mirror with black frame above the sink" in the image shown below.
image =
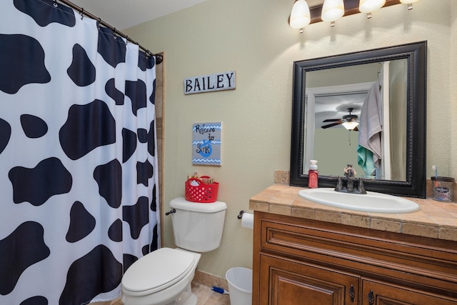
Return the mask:
<svg viewBox="0 0 457 305">
<path fill-rule="evenodd" d="M 295 61 L 290 184 L 334 187 L 353 165 L 365 189 L 426 196 L 426 41 Z"/>
</svg>

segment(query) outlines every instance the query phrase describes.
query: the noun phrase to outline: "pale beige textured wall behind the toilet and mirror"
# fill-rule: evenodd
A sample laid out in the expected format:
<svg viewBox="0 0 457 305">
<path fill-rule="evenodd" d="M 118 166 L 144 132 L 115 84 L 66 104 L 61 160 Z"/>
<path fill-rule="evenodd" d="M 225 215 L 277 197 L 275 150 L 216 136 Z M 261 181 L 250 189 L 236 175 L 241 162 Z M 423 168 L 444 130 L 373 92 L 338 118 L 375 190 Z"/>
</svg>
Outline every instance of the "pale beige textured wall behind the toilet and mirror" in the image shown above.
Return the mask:
<svg viewBox="0 0 457 305">
<path fill-rule="evenodd" d="M 209 274 L 224 277 L 232 266 L 252 264 L 252 231 L 236 215 L 273 184 L 276 169 L 288 170 L 293 61 L 427 40 L 427 176 L 436 164 L 439 174 L 457 177 L 456 1 L 421 0 L 412 11 L 389 6 L 372 19 L 356 14 L 334 28 L 312 24 L 303 34 L 287 24 L 292 4 L 209 0 L 126 31 L 166 54 L 164 209 L 184 194 L 194 171 L 214 176 L 229 206 L 220 248 L 199 264 Z M 236 90 L 184 95 L 186 77 L 229 70 L 236 71 Z M 192 166 L 191 126 L 209 121 L 223 124 L 222 166 Z M 167 217 L 164 242 L 173 246 Z"/>
</svg>

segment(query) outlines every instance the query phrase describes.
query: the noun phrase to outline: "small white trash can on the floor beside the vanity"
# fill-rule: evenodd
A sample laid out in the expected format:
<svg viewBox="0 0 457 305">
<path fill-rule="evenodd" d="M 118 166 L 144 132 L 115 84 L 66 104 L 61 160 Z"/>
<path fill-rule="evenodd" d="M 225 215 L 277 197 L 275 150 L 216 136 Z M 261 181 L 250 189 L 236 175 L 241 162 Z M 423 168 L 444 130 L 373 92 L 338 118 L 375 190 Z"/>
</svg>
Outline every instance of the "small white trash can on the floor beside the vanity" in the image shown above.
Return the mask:
<svg viewBox="0 0 457 305">
<path fill-rule="evenodd" d="M 252 304 L 252 270 L 234 267 L 226 272 L 231 305 Z"/>
</svg>

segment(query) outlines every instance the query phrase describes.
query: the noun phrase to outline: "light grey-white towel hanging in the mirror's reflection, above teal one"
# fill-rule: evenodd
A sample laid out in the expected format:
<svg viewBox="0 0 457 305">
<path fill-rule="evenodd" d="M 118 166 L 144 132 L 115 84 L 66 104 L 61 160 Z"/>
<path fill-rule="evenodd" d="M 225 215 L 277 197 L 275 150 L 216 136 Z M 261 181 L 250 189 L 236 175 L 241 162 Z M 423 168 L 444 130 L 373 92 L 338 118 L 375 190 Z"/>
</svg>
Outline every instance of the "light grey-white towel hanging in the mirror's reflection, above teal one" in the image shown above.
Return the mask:
<svg viewBox="0 0 457 305">
<path fill-rule="evenodd" d="M 358 126 L 358 145 L 373 153 L 373 163 L 377 167 L 380 166 L 382 158 L 382 125 L 381 93 L 379 91 L 379 83 L 376 81 L 371 86 L 361 109 Z"/>
</svg>

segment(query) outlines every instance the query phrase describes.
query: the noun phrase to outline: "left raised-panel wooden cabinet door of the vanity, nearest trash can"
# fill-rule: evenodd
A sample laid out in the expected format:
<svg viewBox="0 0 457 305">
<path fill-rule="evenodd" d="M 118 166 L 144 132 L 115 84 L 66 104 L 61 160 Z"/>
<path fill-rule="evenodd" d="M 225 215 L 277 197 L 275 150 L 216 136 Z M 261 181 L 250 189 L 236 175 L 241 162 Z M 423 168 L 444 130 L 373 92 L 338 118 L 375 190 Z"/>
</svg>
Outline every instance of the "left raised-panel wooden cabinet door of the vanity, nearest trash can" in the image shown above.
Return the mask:
<svg viewBox="0 0 457 305">
<path fill-rule="evenodd" d="M 360 277 L 322 266 L 261 254 L 262 305 L 358 304 Z"/>
</svg>

